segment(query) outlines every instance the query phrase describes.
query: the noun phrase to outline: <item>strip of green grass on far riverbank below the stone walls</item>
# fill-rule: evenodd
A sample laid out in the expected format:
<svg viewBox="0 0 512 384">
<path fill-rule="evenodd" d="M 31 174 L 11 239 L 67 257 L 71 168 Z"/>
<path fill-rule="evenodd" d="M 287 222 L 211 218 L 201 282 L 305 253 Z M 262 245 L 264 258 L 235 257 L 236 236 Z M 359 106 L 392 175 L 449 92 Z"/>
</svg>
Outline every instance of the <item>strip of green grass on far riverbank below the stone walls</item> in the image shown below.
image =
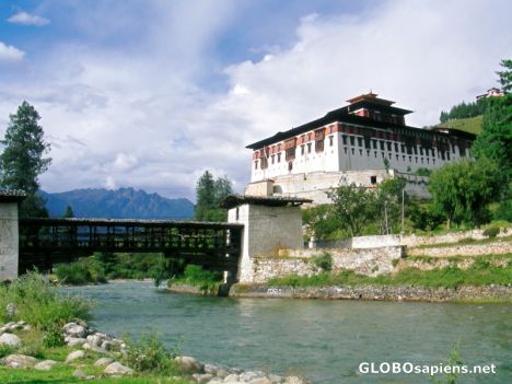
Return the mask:
<svg viewBox="0 0 512 384">
<path fill-rule="evenodd" d="M 429 288 L 456 288 L 459 286 L 489 286 L 512 283 L 512 263 L 498 267 L 479 257 L 467 269 L 457 267 L 420 270 L 404 268 L 396 274 L 368 277 L 351 270 L 329 274 L 324 272 L 311 277 L 290 275 L 270 279 L 274 287 L 329 287 L 329 286 L 417 286 Z"/>
</svg>

